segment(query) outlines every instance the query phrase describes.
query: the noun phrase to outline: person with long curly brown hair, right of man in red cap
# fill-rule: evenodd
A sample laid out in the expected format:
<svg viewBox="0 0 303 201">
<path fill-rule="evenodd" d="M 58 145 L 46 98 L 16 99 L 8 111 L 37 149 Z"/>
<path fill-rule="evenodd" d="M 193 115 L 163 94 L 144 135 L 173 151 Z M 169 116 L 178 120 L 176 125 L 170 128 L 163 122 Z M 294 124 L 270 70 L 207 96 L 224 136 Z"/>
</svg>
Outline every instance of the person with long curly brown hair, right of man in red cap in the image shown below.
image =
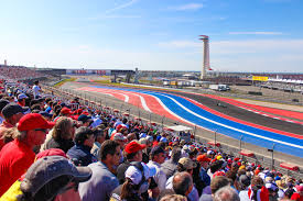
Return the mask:
<svg viewBox="0 0 303 201">
<path fill-rule="evenodd" d="M 52 131 L 52 137 L 46 142 L 46 149 L 59 148 L 67 153 L 74 146 L 75 126 L 71 118 L 59 118 Z"/>
</svg>

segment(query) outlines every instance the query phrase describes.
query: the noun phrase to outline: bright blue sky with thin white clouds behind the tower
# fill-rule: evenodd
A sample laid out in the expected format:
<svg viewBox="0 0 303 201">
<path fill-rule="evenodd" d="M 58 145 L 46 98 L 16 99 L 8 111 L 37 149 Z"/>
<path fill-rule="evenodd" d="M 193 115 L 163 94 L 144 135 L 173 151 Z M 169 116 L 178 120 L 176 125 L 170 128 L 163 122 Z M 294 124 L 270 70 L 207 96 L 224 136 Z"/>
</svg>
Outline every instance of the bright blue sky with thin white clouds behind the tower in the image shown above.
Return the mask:
<svg viewBox="0 0 303 201">
<path fill-rule="evenodd" d="M 302 0 L 0 0 L 0 64 L 303 72 Z"/>
</svg>

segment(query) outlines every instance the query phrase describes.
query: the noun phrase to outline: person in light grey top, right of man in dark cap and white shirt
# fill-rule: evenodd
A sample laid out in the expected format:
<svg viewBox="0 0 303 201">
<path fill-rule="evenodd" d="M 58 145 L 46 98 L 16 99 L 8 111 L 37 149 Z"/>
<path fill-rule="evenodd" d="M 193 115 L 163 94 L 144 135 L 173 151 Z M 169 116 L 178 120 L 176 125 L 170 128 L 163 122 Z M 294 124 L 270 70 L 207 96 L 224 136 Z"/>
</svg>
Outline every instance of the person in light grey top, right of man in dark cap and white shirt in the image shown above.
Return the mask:
<svg viewBox="0 0 303 201">
<path fill-rule="evenodd" d="M 174 147 L 172 149 L 171 158 L 161 165 L 161 169 L 166 175 L 167 179 L 172 177 L 176 171 L 176 166 L 180 158 L 181 158 L 181 148 Z"/>
</svg>

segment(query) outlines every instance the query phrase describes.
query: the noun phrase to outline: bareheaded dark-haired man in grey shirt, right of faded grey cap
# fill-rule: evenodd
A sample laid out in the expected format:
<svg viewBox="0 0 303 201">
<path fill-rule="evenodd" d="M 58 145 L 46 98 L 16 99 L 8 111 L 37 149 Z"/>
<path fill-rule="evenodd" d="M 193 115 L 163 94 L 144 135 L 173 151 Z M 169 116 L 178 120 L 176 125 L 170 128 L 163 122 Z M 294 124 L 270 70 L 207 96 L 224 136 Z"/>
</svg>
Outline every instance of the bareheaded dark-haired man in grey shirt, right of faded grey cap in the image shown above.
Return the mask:
<svg viewBox="0 0 303 201">
<path fill-rule="evenodd" d="M 90 164 L 91 178 L 79 185 L 83 201 L 108 201 L 111 192 L 119 186 L 115 167 L 121 157 L 120 146 L 113 141 L 105 141 L 100 148 L 100 161 Z"/>
</svg>

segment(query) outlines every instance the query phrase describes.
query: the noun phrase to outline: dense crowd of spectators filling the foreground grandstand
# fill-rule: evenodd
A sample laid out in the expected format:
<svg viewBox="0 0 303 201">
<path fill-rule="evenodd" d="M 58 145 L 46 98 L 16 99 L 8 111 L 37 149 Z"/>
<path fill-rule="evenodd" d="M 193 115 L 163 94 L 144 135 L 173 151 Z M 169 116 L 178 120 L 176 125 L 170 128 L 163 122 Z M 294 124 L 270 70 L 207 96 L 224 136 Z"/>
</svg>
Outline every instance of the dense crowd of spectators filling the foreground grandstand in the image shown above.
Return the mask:
<svg viewBox="0 0 303 201">
<path fill-rule="evenodd" d="M 39 81 L 0 90 L 0 201 L 303 200 L 301 179 L 63 101 Z"/>
</svg>

